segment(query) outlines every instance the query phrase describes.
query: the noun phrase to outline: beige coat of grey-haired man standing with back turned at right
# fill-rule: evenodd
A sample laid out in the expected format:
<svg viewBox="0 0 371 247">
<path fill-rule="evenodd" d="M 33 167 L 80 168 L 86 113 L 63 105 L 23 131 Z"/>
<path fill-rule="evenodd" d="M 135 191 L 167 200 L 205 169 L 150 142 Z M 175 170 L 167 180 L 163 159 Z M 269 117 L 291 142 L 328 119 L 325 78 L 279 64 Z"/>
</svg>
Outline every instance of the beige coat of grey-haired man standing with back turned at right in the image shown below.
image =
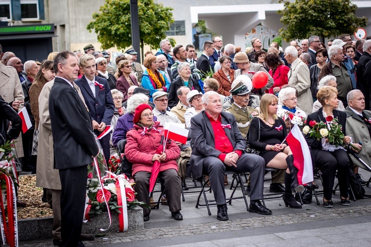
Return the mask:
<svg viewBox="0 0 371 247">
<path fill-rule="evenodd" d="M 297 58 L 288 72 L 288 84 L 298 91 L 298 107 L 306 112 L 312 113 L 313 98 L 311 93 L 311 76 L 308 66 Z"/>
</svg>

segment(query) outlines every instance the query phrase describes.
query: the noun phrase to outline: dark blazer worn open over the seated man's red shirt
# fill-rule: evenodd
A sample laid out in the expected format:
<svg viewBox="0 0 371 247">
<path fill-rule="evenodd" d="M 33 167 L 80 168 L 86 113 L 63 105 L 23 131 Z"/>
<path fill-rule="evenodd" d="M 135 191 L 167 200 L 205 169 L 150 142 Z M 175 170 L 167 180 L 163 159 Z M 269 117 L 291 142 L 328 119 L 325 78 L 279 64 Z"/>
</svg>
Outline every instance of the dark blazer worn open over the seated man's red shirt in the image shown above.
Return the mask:
<svg viewBox="0 0 371 247">
<path fill-rule="evenodd" d="M 231 124 L 232 128 L 225 128 L 233 146 L 233 151 L 246 149 L 246 141 L 242 137 L 236 119 L 229 112 L 221 112 L 222 124 Z M 218 157 L 221 152 L 215 148 L 214 130 L 205 111 L 190 119 L 190 136 L 194 143 L 190 155 L 190 167 L 194 176 L 201 177 L 203 160 L 208 156 Z M 243 152 L 242 152 L 243 153 Z"/>
</svg>

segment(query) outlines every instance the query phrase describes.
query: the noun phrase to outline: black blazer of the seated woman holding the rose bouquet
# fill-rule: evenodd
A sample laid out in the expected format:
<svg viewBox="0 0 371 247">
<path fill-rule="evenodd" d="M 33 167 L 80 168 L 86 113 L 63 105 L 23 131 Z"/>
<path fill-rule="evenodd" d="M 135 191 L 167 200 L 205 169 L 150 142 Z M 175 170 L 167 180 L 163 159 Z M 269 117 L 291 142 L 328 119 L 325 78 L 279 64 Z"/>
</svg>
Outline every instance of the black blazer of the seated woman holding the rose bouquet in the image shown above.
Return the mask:
<svg viewBox="0 0 371 247">
<path fill-rule="evenodd" d="M 317 112 L 309 114 L 308 117 L 307 117 L 307 124 L 306 125 L 308 125 L 310 128 L 312 128 L 311 125 L 309 125 L 309 122 L 312 121 L 312 120 L 316 121 L 317 123 L 319 123 L 321 121 L 326 123 L 326 119 L 322 115 L 322 110 L 323 110 L 323 108 L 321 107 Z M 333 113 L 334 118 L 336 118 L 338 120 L 338 123 L 341 124 L 341 126 L 342 126 L 341 131 L 345 135 L 347 114 L 345 112 L 337 111 L 337 110 L 333 110 L 332 113 Z M 314 167 L 316 165 L 317 153 L 318 153 L 318 151 L 322 150 L 322 142 L 321 142 L 321 140 L 317 141 L 315 138 L 311 137 L 311 135 L 309 133 L 305 135 L 305 140 L 307 141 L 308 146 L 310 147 L 311 156 L 312 156 L 312 163 L 313 163 L 313 167 Z"/>
</svg>

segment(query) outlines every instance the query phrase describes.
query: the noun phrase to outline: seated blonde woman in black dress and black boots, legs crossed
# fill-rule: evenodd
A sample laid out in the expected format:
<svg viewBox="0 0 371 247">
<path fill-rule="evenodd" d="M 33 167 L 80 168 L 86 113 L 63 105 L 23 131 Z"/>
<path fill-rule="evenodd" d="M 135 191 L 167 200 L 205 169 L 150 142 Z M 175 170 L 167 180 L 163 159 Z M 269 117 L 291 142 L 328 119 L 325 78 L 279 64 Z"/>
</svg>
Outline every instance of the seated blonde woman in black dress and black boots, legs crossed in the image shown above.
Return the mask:
<svg viewBox="0 0 371 247">
<path fill-rule="evenodd" d="M 249 144 L 251 148 L 262 151 L 260 156 L 264 158 L 267 167 L 286 169 L 283 202 L 286 206 L 301 208 L 302 206 L 297 204 L 293 195 L 295 191 L 303 191 L 304 187 L 298 183 L 298 171 L 293 164 L 291 149 L 286 142 L 282 143 L 287 131 L 285 122 L 277 118 L 277 103 L 276 95 L 263 95 L 260 100 L 261 114 L 258 118 L 253 118 L 250 124 Z"/>
</svg>

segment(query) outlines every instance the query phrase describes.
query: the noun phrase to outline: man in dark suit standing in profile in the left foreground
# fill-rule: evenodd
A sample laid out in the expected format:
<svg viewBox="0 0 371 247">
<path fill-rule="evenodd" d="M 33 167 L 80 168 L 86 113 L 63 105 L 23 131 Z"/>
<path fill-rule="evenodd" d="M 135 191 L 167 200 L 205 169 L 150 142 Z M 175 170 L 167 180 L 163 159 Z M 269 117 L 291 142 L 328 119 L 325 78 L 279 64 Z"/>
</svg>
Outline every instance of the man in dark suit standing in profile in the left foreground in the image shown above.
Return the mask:
<svg viewBox="0 0 371 247">
<path fill-rule="evenodd" d="M 63 247 L 84 246 L 79 242 L 85 208 L 88 164 L 98 155 L 92 120 L 72 82 L 77 79 L 79 59 L 71 51 L 54 58 L 56 77 L 49 95 L 54 166 L 59 169 L 61 235 Z"/>
</svg>

